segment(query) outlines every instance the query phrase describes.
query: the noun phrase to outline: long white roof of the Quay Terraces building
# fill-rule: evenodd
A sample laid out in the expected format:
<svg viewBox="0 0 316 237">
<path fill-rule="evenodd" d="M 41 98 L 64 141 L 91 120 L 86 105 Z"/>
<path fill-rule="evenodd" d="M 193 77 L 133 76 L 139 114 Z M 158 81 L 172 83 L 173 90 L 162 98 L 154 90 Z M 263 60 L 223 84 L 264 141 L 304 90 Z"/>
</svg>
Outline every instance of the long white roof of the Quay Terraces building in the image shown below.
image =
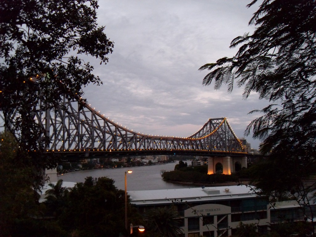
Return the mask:
<svg viewBox="0 0 316 237">
<path fill-rule="evenodd" d="M 175 200 L 200 202 L 209 200 L 223 200 L 249 198 L 256 196 L 253 186 L 235 185 L 206 188 L 182 188 L 163 190 L 128 191 L 131 203 L 136 205 L 167 204 Z M 208 194 L 209 193 L 209 194 Z"/>
</svg>

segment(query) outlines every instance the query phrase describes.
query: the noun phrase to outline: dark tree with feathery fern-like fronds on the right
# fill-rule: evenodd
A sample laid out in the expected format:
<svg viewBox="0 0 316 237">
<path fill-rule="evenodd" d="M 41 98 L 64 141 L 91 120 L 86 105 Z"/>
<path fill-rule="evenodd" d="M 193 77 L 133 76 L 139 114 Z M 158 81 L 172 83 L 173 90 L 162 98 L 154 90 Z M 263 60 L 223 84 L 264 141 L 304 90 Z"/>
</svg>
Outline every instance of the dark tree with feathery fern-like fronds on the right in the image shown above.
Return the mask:
<svg viewBox="0 0 316 237">
<path fill-rule="evenodd" d="M 227 84 L 228 92 L 237 85 L 244 89 L 245 99 L 258 93 L 259 99 L 270 101 L 250 112 L 263 115 L 248 125 L 245 135 L 253 130 L 253 137 L 264 141 L 261 151 L 269 154 L 270 165 L 291 167 L 293 173 L 283 172 L 293 177 L 283 190 L 289 191 L 315 172 L 316 4 L 313 0 L 263 0 L 249 23 L 256 30 L 231 42 L 231 48 L 239 46 L 236 55 L 199 70 L 211 70 L 204 85 L 214 82 L 214 88 L 220 89 Z M 278 176 L 277 181 L 286 179 Z M 264 182 L 266 177 L 256 178 Z"/>
</svg>

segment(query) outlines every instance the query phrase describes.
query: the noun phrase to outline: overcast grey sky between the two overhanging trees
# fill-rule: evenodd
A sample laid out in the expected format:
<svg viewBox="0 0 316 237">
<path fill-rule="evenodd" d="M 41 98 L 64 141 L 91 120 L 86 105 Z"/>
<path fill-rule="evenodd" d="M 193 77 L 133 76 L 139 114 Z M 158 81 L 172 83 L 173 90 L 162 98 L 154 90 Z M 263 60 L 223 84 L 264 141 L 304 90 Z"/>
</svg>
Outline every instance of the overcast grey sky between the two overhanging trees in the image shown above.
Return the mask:
<svg viewBox="0 0 316 237">
<path fill-rule="evenodd" d="M 99 1 L 98 23 L 114 42 L 108 64 L 90 59 L 101 86 L 84 88 L 84 98 L 106 117 L 134 131 L 187 137 L 209 118 L 227 117 L 238 137 L 258 116 L 248 115 L 267 103 L 252 94 L 242 98 L 235 87 L 202 86 L 207 70 L 198 69 L 222 57 L 237 36 L 253 32 L 248 25 L 258 5 L 250 0 Z M 246 137 L 252 148 L 260 141 Z"/>
</svg>

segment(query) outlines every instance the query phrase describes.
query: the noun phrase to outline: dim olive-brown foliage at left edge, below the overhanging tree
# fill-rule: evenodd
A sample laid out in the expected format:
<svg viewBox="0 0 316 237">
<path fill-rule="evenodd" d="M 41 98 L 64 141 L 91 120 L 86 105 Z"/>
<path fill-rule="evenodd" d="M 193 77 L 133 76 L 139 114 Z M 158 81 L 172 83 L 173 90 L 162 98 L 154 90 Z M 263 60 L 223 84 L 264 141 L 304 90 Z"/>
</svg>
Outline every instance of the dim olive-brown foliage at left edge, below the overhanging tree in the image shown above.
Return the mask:
<svg viewBox="0 0 316 237">
<path fill-rule="evenodd" d="M 0 132 L 0 236 L 18 236 L 19 228 L 38 215 L 39 194 L 34 191 L 33 167 L 20 159 L 21 150 L 13 135 Z"/>
</svg>

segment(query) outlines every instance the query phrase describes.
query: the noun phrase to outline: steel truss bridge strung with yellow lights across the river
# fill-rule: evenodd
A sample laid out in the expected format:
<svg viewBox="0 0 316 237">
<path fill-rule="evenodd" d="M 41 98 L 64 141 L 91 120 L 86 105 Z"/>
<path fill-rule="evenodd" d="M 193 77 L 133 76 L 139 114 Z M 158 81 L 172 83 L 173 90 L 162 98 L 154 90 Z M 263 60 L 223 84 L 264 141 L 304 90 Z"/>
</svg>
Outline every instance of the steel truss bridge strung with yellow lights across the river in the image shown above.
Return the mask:
<svg viewBox="0 0 316 237">
<path fill-rule="evenodd" d="M 39 108 L 45 108 L 45 105 L 41 104 Z M 34 112 L 34 120 L 49 137 L 46 152 L 68 158 L 246 155 L 226 118 L 209 119 L 190 137 L 153 136 L 113 122 L 83 100 L 64 99 L 55 110 Z"/>
</svg>

